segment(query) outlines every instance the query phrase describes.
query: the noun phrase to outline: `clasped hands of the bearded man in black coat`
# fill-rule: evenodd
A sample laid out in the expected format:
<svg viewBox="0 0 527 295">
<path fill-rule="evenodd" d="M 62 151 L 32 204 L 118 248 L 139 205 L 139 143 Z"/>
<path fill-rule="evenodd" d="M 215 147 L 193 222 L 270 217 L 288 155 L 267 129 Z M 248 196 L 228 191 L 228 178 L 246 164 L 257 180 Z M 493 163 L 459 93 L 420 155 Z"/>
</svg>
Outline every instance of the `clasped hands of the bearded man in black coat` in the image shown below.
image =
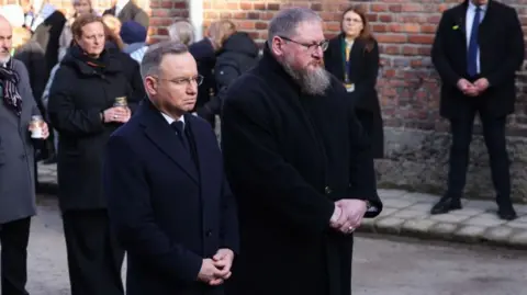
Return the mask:
<svg viewBox="0 0 527 295">
<path fill-rule="evenodd" d="M 363 200 L 340 200 L 335 202 L 329 225 L 343 234 L 351 234 L 360 226 L 367 211 L 367 203 Z"/>
</svg>

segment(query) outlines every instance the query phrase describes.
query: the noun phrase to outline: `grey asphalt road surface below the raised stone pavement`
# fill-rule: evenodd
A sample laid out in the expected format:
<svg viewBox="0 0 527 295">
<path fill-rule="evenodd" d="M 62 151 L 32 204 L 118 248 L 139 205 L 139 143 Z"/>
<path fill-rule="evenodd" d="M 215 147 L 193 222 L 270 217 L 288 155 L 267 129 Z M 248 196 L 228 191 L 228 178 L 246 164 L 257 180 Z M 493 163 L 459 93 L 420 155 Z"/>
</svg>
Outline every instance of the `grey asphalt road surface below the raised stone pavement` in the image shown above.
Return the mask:
<svg viewBox="0 0 527 295">
<path fill-rule="evenodd" d="M 357 234 L 354 295 L 527 294 L 524 251 L 378 237 Z M 30 293 L 69 294 L 66 247 L 55 196 L 38 196 L 29 253 Z"/>
</svg>

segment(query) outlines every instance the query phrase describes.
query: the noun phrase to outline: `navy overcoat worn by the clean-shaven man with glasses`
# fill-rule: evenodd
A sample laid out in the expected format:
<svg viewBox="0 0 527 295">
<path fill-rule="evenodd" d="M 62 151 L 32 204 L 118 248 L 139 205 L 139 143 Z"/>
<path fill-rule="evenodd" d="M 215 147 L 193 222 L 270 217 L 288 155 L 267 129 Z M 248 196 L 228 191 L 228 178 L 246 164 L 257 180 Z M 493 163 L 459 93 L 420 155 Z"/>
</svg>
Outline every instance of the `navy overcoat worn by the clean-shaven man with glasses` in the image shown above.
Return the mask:
<svg viewBox="0 0 527 295">
<path fill-rule="evenodd" d="M 159 111 L 145 100 L 108 144 L 104 192 L 127 251 L 128 295 L 221 295 L 198 283 L 202 259 L 238 251 L 234 198 L 211 126 L 187 115 L 199 169 Z"/>
</svg>

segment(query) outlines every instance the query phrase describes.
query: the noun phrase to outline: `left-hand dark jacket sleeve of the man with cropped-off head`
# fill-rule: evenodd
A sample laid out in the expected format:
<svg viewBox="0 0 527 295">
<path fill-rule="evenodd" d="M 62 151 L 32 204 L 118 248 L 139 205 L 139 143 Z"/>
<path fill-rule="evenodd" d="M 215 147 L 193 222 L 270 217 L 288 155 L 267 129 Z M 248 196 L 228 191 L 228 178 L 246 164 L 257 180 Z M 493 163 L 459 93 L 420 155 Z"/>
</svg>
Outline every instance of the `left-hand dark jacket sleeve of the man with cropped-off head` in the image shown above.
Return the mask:
<svg viewBox="0 0 527 295">
<path fill-rule="evenodd" d="M 448 46 L 448 39 L 445 39 L 444 34 L 450 30 L 449 25 L 452 23 L 450 18 L 451 16 L 447 11 L 442 14 L 441 20 L 439 21 L 436 37 L 431 45 L 431 63 L 436 67 L 442 82 L 456 87 L 459 79 L 462 77 L 452 69 L 445 54 L 445 48 Z"/>
</svg>

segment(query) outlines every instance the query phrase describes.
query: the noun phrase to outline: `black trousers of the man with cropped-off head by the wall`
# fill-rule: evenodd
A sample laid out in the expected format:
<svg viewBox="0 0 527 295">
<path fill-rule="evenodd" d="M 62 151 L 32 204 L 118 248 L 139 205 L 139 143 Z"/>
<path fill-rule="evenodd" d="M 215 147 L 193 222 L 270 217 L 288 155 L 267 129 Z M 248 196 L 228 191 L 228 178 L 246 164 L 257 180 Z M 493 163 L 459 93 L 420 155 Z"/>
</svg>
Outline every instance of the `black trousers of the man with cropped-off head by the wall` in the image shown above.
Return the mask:
<svg viewBox="0 0 527 295">
<path fill-rule="evenodd" d="M 473 104 L 463 107 L 464 116 L 450 120 L 452 145 L 450 148 L 450 171 L 448 192 L 450 197 L 461 197 L 467 180 L 469 147 L 472 140 L 474 117 L 478 113 L 483 127 L 483 137 L 490 156 L 492 181 L 496 190 L 498 206 L 511 206 L 509 160 L 505 140 L 506 116 L 493 116 L 483 106 Z"/>
</svg>

